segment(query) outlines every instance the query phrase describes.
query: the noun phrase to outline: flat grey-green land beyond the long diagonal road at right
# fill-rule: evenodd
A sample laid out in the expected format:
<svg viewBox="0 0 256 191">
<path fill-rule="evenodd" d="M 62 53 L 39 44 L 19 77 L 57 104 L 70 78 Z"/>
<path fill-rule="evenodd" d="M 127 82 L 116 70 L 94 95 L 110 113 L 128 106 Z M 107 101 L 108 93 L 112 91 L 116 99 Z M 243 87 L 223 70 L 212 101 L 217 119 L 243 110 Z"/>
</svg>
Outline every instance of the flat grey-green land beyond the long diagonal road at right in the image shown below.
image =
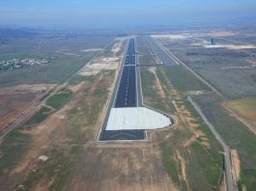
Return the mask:
<svg viewBox="0 0 256 191">
<path fill-rule="evenodd" d="M 205 48 L 203 45 L 210 44 L 212 38 L 216 45 L 227 45 L 234 41 L 243 45 L 256 44 L 253 37 L 241 41 L 241 36 L 223 34 L 223 37 L 214 37 L 208 33 L 191 33 L 184 39 L 160 38 L 157 41 L 210 82 L 220 93 L 228 98 L 238 98 L 256 95 L 255 48 Z"/>
</svg>

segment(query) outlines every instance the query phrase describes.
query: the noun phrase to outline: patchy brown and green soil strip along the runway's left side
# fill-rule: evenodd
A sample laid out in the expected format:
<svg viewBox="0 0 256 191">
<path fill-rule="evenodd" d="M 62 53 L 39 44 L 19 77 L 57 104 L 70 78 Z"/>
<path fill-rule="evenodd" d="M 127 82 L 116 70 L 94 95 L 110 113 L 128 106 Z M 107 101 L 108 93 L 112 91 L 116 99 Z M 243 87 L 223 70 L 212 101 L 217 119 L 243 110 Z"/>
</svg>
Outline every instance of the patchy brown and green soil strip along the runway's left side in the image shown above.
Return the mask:
<svg viewBox="0 0 256 191">
<path fill-rule="evenodd" d="M 107 87 L 113 82 L 113 78 L 113 74 L 100 73 L 93 81 L 85 80 L 70 85 L 75 95 L 68 104 L 48 116 L 42 123 L 24 125 L 19 128 L 17 132 L 22 135 L 20 138 L 15 134 L 13 137 L 7 137 L 0 147 L 3 153 L 0 163 L 6 164 L 1 169 L 4 173 L 0 176 L 0 189 L 10 190 L 22 185 L 32 190 L 45 190 L 49 187 L 60 186 L 60 182 L 57 180 L 62 178 L 62 173 L 59 170 L 65 170 L 71 164 L 73 167 L 74 161 L 79 155 L 76 148 L 81 150 L 89 139 L 92 142 L 95 141 L 100 126 L 95 129 L 92 125 L 97 123 L 102 109 L 101 104 L 107 95 L 107 92 L 101 89 L 104 87 L 107 90 Z M 100 90 L 97 87 L 99 85 Z M 93 97 L 95 91 L 100 95 Z M 29 137 L 29 139 L 26 138 L 25 144 L 23 136 Z M 12 145 L 6 145 L 11 138 L 13 139 Z M 18 144 L 20 141 L 22 141 L 22 145 Z M 24 146 L 25 148 L 23 148 Z M 11 147 L 13 150 L 23 149 L 22 152 L 16 152 L 10 156 L 6 147 Z M 42 155 L 45 155 L 48 160 L 40 162 L 39 157 Z M 13 158 L 11 163 L 7 163 L 9 157 Z M 68 175 L 64 176 L 70 177 L 70 170 Z M 52 178 L 56 178 L 56 182 L 51 182 Z M 66 182 L 62 183 L 66 184 Z"/>
</svg>

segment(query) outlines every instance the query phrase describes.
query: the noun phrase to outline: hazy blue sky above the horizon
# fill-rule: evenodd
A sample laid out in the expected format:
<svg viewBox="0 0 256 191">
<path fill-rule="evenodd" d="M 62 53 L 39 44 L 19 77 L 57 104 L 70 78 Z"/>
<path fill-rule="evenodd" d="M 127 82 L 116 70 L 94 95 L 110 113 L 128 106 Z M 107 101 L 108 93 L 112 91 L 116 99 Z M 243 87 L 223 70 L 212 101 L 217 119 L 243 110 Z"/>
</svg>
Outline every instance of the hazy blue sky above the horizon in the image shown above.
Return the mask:
<svg viewBox="0 0 256 191">
<path fill-rule="evenodd" d="M 88 28 L 224 24 L 246 18 L 256 18 L 255 0 L 0 0 L 0 25 Z"/>
</svg>

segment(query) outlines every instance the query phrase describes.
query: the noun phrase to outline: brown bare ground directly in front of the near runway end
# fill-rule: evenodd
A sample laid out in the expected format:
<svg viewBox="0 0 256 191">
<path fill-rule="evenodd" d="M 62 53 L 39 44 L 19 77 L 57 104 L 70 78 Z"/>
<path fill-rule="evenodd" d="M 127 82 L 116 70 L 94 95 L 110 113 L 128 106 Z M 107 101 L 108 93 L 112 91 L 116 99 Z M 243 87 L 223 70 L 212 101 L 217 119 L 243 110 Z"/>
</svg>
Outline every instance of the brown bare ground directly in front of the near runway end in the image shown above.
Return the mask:
<svg viewBox="0 0 256 191">
<path fill-rule="evenodd" d="M 124 148 L 122 148 L 124 146 Z M 152 144 L 85 149 L 67 190 L 176 190 Z"/>
</svg>

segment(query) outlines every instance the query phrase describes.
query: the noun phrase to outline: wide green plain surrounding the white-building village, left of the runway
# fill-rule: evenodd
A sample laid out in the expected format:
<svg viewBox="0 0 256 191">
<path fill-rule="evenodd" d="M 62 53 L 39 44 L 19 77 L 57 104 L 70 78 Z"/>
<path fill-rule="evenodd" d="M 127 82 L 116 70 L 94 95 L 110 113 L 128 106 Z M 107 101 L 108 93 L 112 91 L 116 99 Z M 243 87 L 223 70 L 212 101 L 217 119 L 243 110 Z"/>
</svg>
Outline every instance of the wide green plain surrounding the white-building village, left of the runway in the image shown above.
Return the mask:
<svg viewBox="0 0 256 191">
<path fill-rule="evenodd" d="M 97 54 L 97 52 L 81 50 L 103 48 L 115 39 L 115 36 L 110 37 L 104 34 L 101 36 L 73 34 L 73 37 L 66 39 L 63 37 L 65 37 L 64 34 L 42 34 L 37 38 L 14 39 L 1 43 L 0 62 L 22 58 L 50 58 L 50 63 L 43 66 L 1 70 L 0 87 L 60 83 Z"/>
</svg>

